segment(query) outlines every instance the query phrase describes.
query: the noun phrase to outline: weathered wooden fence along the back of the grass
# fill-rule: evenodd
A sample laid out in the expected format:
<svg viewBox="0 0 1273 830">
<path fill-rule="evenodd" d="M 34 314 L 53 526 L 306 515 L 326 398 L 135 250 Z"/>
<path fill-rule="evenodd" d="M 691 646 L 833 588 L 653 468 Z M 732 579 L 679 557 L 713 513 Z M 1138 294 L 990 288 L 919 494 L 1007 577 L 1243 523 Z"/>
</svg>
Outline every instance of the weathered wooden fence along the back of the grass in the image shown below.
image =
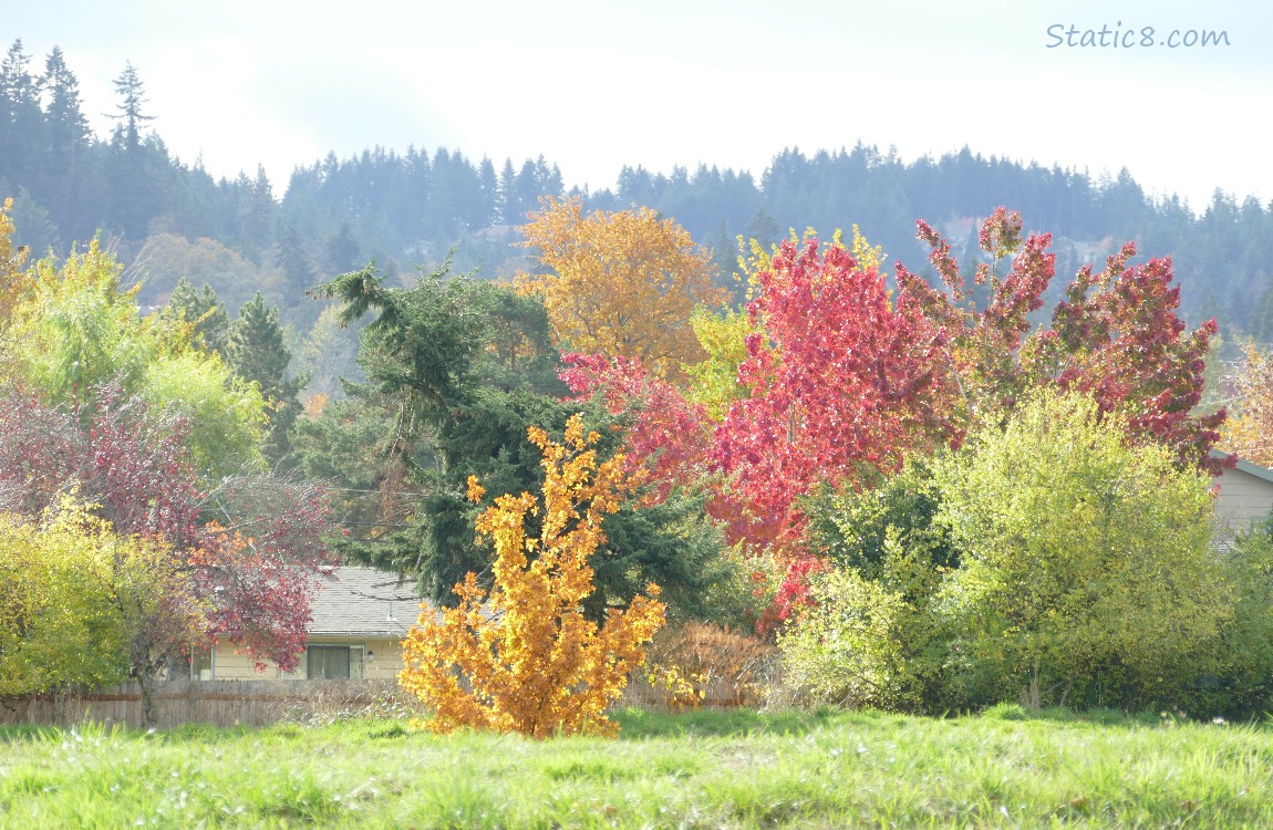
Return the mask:
<svg viewBox="0 0 1273 830">
<path fill-rule="evenodd" d="M 756 705 L 724 682 L 713 681 L 700 705 Z M 659 707 L 667 695 L 643 680 L 629 684 L 619 705 Z M 219 727 L 264 726 L 279 721 L 312 722 L 354 714 L 409 717 L 419 703 L 393 680 L 173 680 L 157 684 L 154 726 L 183 723 Z M 67 695 L 0 699 L 0 724 L 73 726 L 94 721 L 106 726 L 141 726 L 141 687 L 123 684 Z"/>
</svg>

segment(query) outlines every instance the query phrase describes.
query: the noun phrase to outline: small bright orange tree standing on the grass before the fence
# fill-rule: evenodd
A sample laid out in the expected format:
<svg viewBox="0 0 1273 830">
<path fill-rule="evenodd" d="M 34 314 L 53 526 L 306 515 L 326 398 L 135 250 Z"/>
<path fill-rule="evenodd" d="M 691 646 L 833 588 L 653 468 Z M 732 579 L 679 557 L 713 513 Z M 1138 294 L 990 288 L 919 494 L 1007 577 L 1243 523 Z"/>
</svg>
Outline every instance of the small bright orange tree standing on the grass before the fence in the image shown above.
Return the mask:
<svg viewBox="0 0 1273 830">
<path fill-rule="evenodd" d="M 406 667 L 398 684 L 434 717 L 435 732 L 456 728 L 521 732 L 536 738 L 563 733 L 614 735 L 605 709 L 622 693 L 628 673 L 645 659 L 645 643 L 663 625 L 658 586 L 625 610 L 611 610 L 600 628 L 582 603 L 593 592 L 588 556 L 605 544 L 601 521 L 619 509 L 635 480 L 624 457 L 597 462 L 597 433 L 573 415 L 561 444 L 537 426 L 530 440 L 544 453 L 542 503 L 530 493 L 502 495 L 477 519 L 495 546 L 494 584 L 477 586 L 470 572 L 456 586 L 460 605 L 438 621 L 423 605 L 402 643 Z M 485 495 L 476 477 L 468 498 Z M 542 513 L 528 537 L 527 516 Z"/>
</svg>

